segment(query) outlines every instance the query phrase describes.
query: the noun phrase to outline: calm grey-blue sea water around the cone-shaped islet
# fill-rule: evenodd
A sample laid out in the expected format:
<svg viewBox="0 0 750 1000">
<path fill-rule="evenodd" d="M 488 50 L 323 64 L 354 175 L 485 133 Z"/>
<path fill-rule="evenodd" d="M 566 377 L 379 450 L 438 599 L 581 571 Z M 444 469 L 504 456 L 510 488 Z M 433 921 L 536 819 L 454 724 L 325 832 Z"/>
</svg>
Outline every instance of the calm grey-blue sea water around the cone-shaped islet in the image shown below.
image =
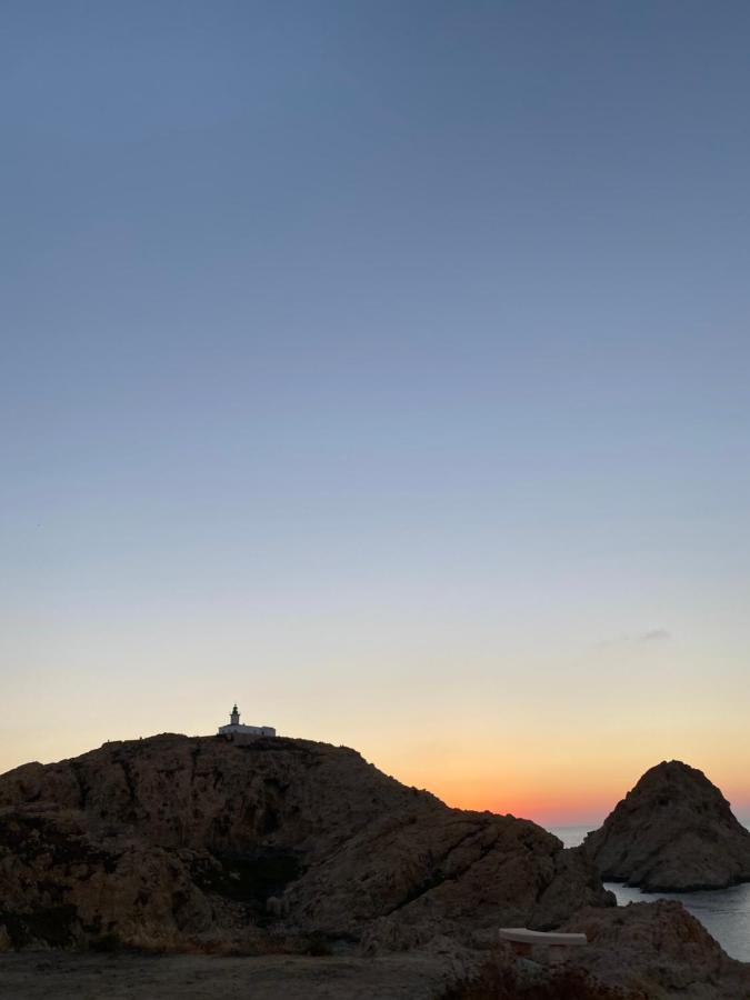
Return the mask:
<svg viewBox="0 0 750 1000">
<path fill-rule="evenodd" d="M 748 826 L 748 823 L 744 823 Z M 578 847 L 594 827 L 551 827 L 566 847 Z M 697 917 L 706 930 L 716 938 L 727 954 L 750 962 L 750 882 L 731 889 L 712 889 L 710 892 L 641 892 L 619 882 L 604 882 L 617 897 L 618 906 L 629 902 L 652 902 L 654 899 L 676 899 Z"/>
</svg>

